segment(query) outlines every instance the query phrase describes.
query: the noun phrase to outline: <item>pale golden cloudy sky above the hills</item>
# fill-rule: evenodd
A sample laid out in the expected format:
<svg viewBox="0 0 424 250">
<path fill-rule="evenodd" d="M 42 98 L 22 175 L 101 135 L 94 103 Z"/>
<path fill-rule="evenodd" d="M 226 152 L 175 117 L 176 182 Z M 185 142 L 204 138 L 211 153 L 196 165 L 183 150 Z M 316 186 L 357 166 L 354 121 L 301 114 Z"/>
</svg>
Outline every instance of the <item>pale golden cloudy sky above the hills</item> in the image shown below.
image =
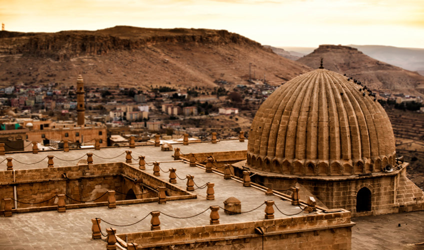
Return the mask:
<svg viewBox="0 0 424 250">
<path fill-rule="evenodd" d="M 424 0 L 0 0 L 6 30 L 227 29 L 262 44 L 424 47 Z"/>
</svg>

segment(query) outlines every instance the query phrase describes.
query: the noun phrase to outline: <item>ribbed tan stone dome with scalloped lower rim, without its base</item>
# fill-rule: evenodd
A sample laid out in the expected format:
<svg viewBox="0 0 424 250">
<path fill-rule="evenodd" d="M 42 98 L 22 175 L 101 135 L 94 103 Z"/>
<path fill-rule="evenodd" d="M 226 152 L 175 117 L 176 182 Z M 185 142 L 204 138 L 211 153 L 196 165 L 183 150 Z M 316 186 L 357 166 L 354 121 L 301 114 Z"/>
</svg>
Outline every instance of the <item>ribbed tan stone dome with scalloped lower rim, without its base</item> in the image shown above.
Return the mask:
<svg viewBox="0 0 424 250">
<path fill-rule="evenodd" d="M 277 88 L 252 121 L 247 166 L 295 175 L 354 175 L 394 164 L 390 120 L 364 87 L 316 69 Z"/>
</svg>

